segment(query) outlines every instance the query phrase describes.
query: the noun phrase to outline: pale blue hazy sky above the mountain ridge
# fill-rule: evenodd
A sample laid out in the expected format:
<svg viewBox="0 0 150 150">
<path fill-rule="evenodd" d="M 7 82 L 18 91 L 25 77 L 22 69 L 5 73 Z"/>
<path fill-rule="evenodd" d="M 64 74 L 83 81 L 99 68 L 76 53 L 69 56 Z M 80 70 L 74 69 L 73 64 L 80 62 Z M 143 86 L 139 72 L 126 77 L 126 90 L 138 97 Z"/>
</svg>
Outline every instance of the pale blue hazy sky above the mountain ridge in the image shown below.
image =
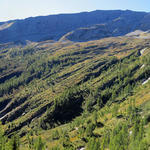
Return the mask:
<svg viewBox="0 0 150 150">
<path fill-rule="evenodd" d="M 150 12 L 150 0 L 0 0 L 0 21 L 96 9 Z"/>
</svg>

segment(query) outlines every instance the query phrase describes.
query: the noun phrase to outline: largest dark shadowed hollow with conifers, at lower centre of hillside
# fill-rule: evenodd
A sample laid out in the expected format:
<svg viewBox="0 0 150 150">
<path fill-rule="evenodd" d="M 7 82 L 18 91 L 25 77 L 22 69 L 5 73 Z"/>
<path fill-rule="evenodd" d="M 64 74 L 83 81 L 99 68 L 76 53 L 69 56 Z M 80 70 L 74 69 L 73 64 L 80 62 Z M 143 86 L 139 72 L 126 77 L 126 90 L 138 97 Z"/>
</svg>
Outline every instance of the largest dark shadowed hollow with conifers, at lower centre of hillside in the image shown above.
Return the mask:
<svg viewBox="0 0 150 150">
<path fill-rule="evenodd" d="M 53 108 L 47 110 L 45 119 L 41 123 L 42 128 L 48 128 L 48 126 L 53 127 L 54 122 L 57 124 L 59 122 L 64 123 L 65 121 L 72 120 L 74 115 L 80 115 L 82 111 L 81 105 L 84 100 L 83 94 L 83 91 L 75 86 L 67 89 L 58 96 L 54 101 Z"/>
</svg>

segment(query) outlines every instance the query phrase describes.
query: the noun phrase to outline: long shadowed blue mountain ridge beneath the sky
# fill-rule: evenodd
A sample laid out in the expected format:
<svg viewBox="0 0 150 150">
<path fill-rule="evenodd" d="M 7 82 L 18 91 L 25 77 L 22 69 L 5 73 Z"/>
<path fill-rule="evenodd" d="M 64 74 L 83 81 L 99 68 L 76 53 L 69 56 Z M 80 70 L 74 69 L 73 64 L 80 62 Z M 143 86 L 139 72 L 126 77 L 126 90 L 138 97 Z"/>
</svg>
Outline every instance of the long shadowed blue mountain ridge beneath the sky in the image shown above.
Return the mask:
<svg viewBox="0 0 150 150">
<path fill-rule="evenodd" d="M 1 22 L 0 43 L 60 39 L 82 42 L 149 29 L 150 13 L 96 10 Z"/>
</svg>

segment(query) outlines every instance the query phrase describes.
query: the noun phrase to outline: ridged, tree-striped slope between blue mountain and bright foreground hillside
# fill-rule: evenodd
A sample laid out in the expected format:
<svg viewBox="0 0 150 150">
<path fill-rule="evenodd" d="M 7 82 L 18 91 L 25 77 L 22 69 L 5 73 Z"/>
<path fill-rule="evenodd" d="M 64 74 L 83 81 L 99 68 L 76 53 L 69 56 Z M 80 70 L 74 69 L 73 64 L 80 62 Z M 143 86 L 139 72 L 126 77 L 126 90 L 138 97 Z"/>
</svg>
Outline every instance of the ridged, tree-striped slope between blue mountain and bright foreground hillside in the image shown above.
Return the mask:
<svg viewBox="0 0 150 150">
<path fill-rule="evenodd" d="M 125 88 L 140 87 L 150 77 L 149 39 L 49 42 L 0 51 L 0 119 L 8 135 L 17 131 L 23 136 L 33 127 L 53 128 L 86 109 L 122 103 L 132 94 L 122 94 Z M 102 93 L 102 102 L 97 95 L 89 98 L 92 91 Z M 57 101 L 62 103 L 57 106 Z"/>
</svg>

